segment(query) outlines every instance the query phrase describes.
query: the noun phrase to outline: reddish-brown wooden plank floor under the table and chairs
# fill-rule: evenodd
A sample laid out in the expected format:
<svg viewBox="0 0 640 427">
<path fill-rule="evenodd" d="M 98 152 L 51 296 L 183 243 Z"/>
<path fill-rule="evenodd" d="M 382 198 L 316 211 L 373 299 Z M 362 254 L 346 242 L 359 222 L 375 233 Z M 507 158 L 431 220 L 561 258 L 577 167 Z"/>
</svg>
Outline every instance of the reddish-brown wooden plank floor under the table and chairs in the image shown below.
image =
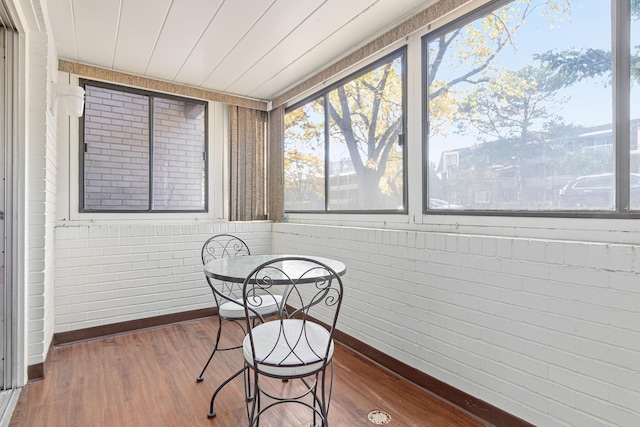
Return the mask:
<svg viewBox="0 0 640 427">
<path fill-rule="evenodd" d="M 47 378 L 24 388 L 9 425 L 246 425 L 239 378 L 218 395 L 217 416 L 207 418 L 211 393 L 241 366 L 238 350 L 216 354 L 204 381 L 195 381 L 216 328 L 217 321 L 208 318 L 57 347 Z M 232 329 L 225 335 L 240 339 Z M 482 425 L 349 349 L 338 346 L 335 360 L 332 427 L 374 426 L 367 414 L 375 409 L 391 415 L 390 426 Z M 284 410 L 261 419 L 261 427 L 309 426 L 309 413 L 291 406 Z"/>
</svg>

